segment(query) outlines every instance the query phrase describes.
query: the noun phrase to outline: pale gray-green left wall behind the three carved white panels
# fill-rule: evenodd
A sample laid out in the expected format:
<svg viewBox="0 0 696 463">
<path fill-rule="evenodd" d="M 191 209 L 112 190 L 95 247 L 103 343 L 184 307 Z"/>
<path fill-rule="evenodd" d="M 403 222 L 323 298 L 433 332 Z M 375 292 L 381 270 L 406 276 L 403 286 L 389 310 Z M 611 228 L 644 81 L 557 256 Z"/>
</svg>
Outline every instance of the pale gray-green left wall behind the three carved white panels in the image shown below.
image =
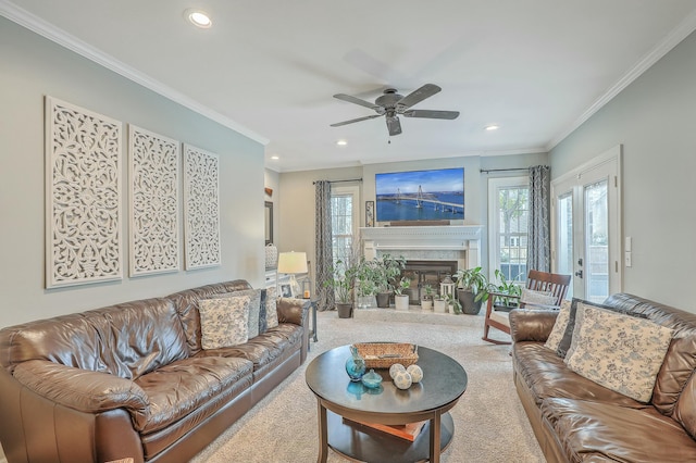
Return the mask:
<svg viewBox="0 0 696 463">
<path fill-rule="evenodd" d="M 0 327 L 201 284 L 263 284 L 263 146 L 0 17 Z M 220 155 L 222 266 L 45 289 L 44 98 L 52 96 Z M 182 228 L 183 237 L 183 228 Z M 183 252 L 183 249 L 182 249 Z M 183 262 L 183 254 L 182 254 Z"/>
</svg>

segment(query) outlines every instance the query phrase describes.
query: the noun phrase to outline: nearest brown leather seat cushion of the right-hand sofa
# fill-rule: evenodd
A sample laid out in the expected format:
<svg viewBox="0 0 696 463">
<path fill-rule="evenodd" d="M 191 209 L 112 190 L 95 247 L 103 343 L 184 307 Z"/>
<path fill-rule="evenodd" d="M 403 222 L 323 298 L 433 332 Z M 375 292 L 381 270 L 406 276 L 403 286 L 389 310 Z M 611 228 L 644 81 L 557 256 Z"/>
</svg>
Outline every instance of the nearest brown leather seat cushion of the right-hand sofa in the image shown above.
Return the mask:
<svg viewBox="0 0 696 463">
<path fill-rule="evenodd" d="M 547 399 L 540 410 L 569 462 L 676 463 L 696 454 L 696 441 L 651 406 Z"/>
</svg>

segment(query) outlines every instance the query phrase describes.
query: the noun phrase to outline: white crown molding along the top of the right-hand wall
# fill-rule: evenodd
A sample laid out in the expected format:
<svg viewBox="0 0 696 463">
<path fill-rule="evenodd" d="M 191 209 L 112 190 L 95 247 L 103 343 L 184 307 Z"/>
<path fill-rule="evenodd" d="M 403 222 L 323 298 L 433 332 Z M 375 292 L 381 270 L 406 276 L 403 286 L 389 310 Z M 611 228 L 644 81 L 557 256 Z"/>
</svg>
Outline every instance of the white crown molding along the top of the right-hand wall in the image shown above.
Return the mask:
<svg viewBox="0 0 696 463">
<path fill-rule="evenodd" d="M 566 137 L 572 134 L 581 125 L 583 125 L 589 117 L 592 117 L 597 111 L 604 108 L 609 101 L 611 101 L 617 95 L 619 95 L 624 88 L 631 85 L 643 73 L 657 63 L 662 57 L 669 53 L 674 47 L 676 47 L 682 40 L 688 37 L 696 30 L 696 10 L 692 11 L 670 34 L 668 34 L 660 42 L 658 42 L 652 49 L 637 63 L 633 65 L 613 86 L 607 90 L 597 101 L 595 101 L 585 112 L 571 124 L 563 132 L 558 134 L 546 147 L 545 151 L 550 152 L 558 143 L 563 141 Z"/>
</svg>

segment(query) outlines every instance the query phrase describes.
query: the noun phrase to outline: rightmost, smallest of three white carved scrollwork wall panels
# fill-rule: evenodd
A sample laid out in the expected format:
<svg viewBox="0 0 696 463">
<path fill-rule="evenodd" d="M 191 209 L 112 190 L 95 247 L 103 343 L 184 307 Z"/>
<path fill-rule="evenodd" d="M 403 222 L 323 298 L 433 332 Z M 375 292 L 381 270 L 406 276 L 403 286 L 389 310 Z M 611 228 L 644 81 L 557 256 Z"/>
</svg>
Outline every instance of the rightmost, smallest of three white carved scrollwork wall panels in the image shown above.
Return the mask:
<svg viewBox="0 0 696 463">
<path fill-rule="evenodd" d="M 220 192 L 216 154 L 184 145 L 186 268 L 220 265 Z"/>
</svg>

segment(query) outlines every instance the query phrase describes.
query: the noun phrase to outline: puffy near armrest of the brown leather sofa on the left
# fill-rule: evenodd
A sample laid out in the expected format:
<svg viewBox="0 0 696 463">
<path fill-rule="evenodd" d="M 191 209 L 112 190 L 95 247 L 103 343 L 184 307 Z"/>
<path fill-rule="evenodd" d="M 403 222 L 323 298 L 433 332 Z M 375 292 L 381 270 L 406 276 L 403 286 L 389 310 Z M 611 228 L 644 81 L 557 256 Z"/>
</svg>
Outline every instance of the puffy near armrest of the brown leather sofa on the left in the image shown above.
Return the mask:
<svg viewBox="0 0 696 463">
<path fill-rule="evenodd" d="M 147 393 L 129 379 L 46 360 L 22 362 L 13 376 L 37 395 L 83 413 L 125 409 L 138 429 L 147 420 Z"/>
</svg>

